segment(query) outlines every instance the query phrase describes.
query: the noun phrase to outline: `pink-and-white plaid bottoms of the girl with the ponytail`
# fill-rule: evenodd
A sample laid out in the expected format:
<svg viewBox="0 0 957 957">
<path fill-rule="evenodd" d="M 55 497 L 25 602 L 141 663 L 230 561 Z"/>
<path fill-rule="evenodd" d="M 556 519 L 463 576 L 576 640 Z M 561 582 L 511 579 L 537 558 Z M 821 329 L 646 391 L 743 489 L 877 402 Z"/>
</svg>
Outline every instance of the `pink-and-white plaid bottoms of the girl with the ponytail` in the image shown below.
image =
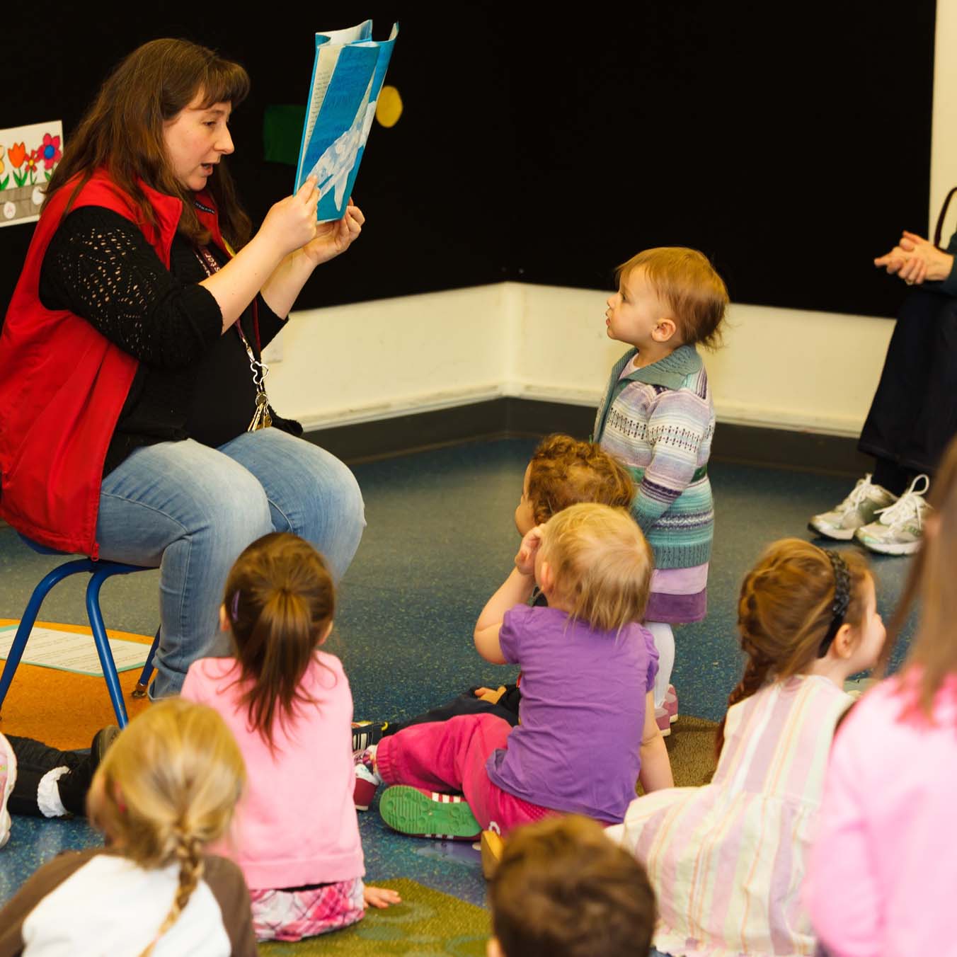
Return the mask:
<svg viewBox="0 0 957 957">
<path fill-rule="evenodd" d="M 362 878 L 307 891 L 250 891 L 257 941 L 300 941 L 361 921 Z"/>
</svg>

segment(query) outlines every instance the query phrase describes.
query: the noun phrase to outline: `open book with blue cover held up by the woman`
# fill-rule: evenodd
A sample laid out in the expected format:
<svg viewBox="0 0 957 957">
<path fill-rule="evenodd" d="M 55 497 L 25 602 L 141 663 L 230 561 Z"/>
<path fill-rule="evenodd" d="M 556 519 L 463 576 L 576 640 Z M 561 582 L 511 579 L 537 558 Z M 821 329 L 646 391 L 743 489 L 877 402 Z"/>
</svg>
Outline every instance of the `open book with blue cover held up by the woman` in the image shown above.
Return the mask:
<svg viewBox="0 0 957 957">
<path fill-rule="evenodd" d="M 373 40 L 371 20 L 316 34 L 295 189 L 316 177 L 321 223 L 345 214 L 398 35 L 396 23 L 388 40 Z"/>
</svg>

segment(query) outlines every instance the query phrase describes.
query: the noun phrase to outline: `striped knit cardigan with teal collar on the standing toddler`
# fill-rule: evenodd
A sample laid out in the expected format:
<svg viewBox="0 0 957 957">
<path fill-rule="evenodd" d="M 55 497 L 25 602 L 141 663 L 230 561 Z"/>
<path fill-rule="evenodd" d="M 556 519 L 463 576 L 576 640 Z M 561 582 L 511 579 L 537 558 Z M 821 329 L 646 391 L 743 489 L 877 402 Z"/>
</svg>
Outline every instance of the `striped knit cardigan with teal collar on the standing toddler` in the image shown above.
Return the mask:
<svg viewBox="0 0 957 957">
<path fill-rule="evenodd" d="M 706 468 L 715 428 L 711 389 L 694 345 L 619 378 L 637 349 L 612 368 L 595 418 L 594 441 L 632 473 L 632 515 L 656 568 L 708 562 L 714 502 Z"/>
</svg>

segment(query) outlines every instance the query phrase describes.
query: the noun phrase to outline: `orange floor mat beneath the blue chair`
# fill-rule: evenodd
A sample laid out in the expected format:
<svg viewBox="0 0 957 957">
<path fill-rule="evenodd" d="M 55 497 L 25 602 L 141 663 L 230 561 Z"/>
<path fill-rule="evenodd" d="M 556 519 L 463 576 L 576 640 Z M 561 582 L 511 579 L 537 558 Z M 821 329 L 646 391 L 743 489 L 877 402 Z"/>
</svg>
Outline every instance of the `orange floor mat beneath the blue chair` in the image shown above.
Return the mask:
<svg viewBox="0 0 957 957">
<path fill-rule="evenodd" d="M 16 621 L 16 618 L 0 618 L 0 625 L 16 624 Z M 93 644 L 93 634 L 88 625 L 59 625 L 42 621 L 36 624 L 38 627 L 60 628 L 64 632 L 89 634 L 90 644 Z M 111 638 L 139 641 L 145 645 L 153 641 L 152 636 L 115 632 L 112 629 L 107 629 L 106 634 Z M 0 670 L 5 664 L 6 660 L 0 659 Z M 120 673 L 120 687 L 130 718 L 149 706 L 147 698 L 132 697 L 139 677 L 139 668 Z M 61 750 L 89 747 L 94 734 L 104 724 L 116 723 L 106 681 L 102 678 L 22 663 L 16 669 L 0 711 L 0 731 L 4 734 L 36 738 Z"/>
</svg>

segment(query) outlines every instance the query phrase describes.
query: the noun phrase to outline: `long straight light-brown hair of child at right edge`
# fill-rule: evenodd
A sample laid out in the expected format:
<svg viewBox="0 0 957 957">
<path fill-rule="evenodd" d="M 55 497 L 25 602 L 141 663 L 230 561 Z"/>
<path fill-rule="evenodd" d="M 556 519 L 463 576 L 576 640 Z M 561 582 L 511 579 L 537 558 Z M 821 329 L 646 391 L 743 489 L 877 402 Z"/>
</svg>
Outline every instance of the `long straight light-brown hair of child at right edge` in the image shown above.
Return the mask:
<svg viewBox="0 0 957 957">
<path fill-rule="evenodd" d="M 957 675 L 957 439 L 946 448 L 927 501 L 934 509 L 933 527 L 924 534 L 904 585 L 901 601 L 887 628 L 887 643 L 879 672 L 886 670 L 894 642 L 917 598 L 921 599 L 921 621 L 904 661 L 902 686 L 911 697 L 905 713 L 913 710 L 933 717 L 934 700 L 946 679 Z"/>
</svg>

